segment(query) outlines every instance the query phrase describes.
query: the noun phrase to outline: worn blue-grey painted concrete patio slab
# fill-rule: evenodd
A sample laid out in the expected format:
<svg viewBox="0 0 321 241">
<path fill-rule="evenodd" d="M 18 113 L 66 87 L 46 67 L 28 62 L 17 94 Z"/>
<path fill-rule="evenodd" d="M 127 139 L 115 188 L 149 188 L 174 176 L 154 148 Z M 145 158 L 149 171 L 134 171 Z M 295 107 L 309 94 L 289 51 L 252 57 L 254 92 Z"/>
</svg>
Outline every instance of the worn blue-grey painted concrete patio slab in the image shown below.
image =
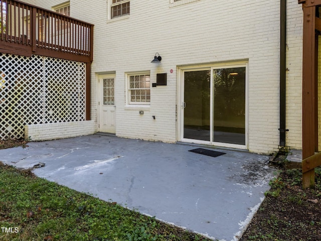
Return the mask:
<svg viewBox="0 0 321 241">
<path fill-rule="evenodd" d="M 93 135 L 0 150 L 0 161 L 18 168 L 42 162 L 37 176 L 213 239 L 237 240 L 274 177 L 269 157 L 189 152 L 196 148 Z"/>
</svg>

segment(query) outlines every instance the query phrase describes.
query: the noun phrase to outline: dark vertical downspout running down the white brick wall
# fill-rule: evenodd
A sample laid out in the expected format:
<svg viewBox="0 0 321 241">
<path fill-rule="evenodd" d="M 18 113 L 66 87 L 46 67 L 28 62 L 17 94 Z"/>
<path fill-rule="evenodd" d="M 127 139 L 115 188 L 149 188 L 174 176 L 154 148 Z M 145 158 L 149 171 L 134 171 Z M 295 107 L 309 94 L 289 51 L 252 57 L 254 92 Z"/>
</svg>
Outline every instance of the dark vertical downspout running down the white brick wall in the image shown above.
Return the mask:
<svg viewBox="0 0 321 241">
<path fill-rule="evenodd" d="M 280 0 L 280 148 L 285 147 L 286 0 Z"/>
</svg>

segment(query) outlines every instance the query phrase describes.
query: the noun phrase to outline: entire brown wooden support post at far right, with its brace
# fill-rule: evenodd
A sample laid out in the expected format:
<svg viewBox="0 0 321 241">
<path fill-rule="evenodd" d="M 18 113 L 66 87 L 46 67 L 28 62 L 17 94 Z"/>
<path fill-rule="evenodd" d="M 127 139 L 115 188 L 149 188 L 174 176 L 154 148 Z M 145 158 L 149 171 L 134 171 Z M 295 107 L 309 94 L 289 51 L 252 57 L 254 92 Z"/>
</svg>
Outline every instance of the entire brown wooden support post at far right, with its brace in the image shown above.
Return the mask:
<svg viewBox="0 0 321 241">
<path fill-rule="evenodd" d="M 298 1 L 303 9 L 303 66 L 302 66 L 302 184 L 314 187 L 314 168 L 320 163 L 318 151 L 317 116 L 317 59 L 318 41 L 316 6 L 319 0 Z M 311 162 L 311 159 L 315 161 Z"/>
</svg>

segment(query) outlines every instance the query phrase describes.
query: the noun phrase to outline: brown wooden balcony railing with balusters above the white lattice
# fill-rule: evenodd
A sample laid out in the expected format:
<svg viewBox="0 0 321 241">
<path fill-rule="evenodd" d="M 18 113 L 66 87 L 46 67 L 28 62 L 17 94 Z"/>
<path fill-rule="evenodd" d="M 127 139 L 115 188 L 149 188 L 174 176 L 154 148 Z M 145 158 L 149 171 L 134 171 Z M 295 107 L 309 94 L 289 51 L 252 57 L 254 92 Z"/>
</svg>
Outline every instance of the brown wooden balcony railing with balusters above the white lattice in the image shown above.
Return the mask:
<svg viewBox="0 0 321 241">
<path fill-rule="evenodd" d="M 15 0 L 0 7 L 0 53 L 92 62 L 92 24 Z"/>
</svg>

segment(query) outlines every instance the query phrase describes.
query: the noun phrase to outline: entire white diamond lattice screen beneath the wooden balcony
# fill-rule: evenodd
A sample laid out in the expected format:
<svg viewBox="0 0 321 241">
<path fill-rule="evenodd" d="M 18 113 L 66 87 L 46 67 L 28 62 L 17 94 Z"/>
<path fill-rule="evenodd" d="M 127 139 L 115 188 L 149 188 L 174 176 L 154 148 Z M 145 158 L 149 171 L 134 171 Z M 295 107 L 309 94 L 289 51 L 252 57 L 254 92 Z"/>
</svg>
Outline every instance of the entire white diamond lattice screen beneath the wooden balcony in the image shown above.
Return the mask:
<svg viewBox="0 0 321 241">
<path fill-rule="evenodd" d="M 0 54 L 0 139 L 24 137 L 27 124 L 84 121 L 85 64 Z"/>
</svg>

